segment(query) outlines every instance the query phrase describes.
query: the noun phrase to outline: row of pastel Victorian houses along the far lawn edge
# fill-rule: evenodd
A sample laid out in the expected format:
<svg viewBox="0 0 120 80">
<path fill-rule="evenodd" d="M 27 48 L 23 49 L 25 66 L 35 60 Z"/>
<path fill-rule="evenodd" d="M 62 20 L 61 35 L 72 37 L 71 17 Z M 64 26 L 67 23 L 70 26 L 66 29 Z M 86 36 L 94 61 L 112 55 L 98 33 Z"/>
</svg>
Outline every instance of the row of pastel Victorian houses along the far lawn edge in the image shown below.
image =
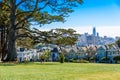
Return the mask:
<svg viewBox="0 0 120 80">
<path fill-rule="evenodd" d="M 43 54 L 43 51 L 49 50 L 50 57 L 49 61 L 58 61 L 59 54 L 62 52 L 65 56 L 65 61 L 69 62 L 71 59 L 74 60 L 88 60 L 90 62 L 107 62 L 115 63 L 114 59 L 117 56 L 120 56 L 120 49 L 116 45 L 104 45 L 104 46 L 86 46 L 86 47 L 62 47 L 61 49 L 55 48 L 46 48 L 46 49 L 34 49 L 29 51 L 18 51 L 18 60 L 33 60 L 37 61 L 40 59 L 40 56 Z"/>
</svg>

